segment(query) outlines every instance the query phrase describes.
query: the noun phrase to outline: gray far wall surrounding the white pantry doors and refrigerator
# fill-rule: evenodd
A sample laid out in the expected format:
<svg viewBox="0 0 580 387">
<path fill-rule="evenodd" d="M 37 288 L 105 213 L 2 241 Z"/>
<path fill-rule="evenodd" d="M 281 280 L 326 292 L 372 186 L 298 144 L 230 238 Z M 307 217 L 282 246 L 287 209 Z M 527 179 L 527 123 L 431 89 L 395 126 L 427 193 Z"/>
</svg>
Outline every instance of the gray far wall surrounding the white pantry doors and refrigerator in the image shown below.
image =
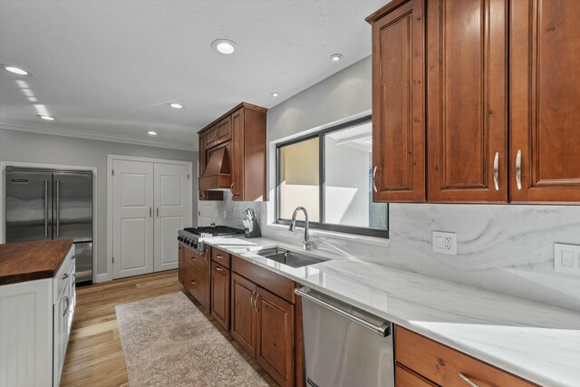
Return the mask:
<svg viewBox="0 0 580 387">
<path fill-rule="evenodd" d="M 192 134 L 194 135 L 194 134 Z M 97 274 L 107 271 L 107 155 L 148 157 L 193 161 L 194 175 L 198 170 L 198 152 L 169 150 L 101 140 L 84 140 L 0 128 L 0 160 L 34 162 L 97 168 Z M 197 198 L 197 176 L 192 176 L 194 198 Z M 197 200 L 193 200 L 193 215 L 197 218 Z"/>
</svg>

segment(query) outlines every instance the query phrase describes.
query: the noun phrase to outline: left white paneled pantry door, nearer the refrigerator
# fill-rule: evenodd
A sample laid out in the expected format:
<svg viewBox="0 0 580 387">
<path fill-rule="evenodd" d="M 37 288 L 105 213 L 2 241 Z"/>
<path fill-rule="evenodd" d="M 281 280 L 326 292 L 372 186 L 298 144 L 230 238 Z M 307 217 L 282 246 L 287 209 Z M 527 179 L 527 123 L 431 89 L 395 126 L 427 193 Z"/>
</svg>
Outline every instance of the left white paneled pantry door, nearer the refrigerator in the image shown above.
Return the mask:
<svg viewBox="0 0 580 387">
<path fill-rule="evenodd" d="M 113 278 L 153 271 L 153 163 L 113 160 Z"/>
</svg>

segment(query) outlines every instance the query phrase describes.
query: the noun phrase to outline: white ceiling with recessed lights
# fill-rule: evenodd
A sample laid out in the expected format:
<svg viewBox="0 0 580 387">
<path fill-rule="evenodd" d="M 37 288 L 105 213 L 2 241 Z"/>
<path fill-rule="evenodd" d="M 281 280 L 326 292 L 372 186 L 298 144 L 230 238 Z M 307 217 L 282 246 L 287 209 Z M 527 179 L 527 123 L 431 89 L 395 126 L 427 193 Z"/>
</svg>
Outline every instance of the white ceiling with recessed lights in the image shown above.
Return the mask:
<svg viewBox="0 0 580 387">
<path fill-rule="evenodd" d="M 238 102 L 271 108 L 368 56 L 364 18 L 385 3 L 0 0 L 0 63 L 34 74 L 0 71 L 0 127 L 197 150 Z M 212 51 L 218 38 L 237 52 Z"/>
</svg>

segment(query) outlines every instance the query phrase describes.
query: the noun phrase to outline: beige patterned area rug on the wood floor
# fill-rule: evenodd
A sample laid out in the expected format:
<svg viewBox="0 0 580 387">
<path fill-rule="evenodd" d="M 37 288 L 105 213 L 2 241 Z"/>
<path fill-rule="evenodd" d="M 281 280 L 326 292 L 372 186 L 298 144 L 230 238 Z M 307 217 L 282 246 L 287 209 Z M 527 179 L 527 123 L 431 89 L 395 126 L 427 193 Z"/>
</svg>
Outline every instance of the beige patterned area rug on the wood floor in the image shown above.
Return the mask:
<svg viewBox="0 0 580 387">
<path fill-rule="evenodd" d="M 186 295 L 115 310 L 131 386 L 267 386 Z"/>
</svg>

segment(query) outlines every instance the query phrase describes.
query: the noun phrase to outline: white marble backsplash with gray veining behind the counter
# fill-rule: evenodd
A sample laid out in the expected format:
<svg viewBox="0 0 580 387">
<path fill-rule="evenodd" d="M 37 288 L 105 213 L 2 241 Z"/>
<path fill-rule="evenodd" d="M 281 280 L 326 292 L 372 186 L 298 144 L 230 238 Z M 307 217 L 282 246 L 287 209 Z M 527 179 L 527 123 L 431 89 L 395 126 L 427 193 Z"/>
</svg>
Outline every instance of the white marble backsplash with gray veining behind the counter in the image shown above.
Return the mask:
<svg viewBox="0 0 580 387">
<path fill-rule="evenodd" d="M 213 205 L 226 214 L 218 224 L 241 227 L 242 212 L 254 208 L 264 237 L 302 246 L 302 229 L 267 225 L 267 203 L 226 198 Z M 580 276 L 554 271 L 554 243 L 580 245 L 580 207 L 391 204 L 390 228 L 388 247 L 322 234 L 314 242 L 353 260 L 580 311 Z M 433 253 L 432 231 L 457 233 L 458 255 Z"/>
</svg>

